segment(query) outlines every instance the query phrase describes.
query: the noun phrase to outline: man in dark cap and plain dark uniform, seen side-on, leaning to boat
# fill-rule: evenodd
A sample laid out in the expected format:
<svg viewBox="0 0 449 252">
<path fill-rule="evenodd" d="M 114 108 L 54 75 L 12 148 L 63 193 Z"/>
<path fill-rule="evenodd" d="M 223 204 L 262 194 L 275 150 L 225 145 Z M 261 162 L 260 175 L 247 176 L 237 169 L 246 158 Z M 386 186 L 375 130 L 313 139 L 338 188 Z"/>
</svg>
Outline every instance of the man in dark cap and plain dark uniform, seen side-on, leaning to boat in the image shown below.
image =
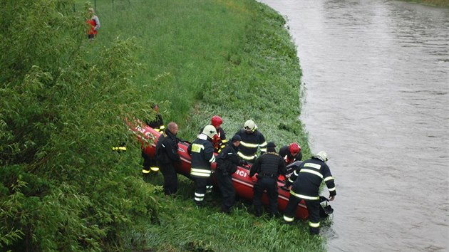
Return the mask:
<svg viewBox="0 0 449 252">
<path fill-rule="evenodd" d="M 235 189 L 232 185 L 232 174 L 237 171 L 237 165 L 246 164 L 237 155 L 240 141 L 242 137 L 234 135 L 231 142 L 222 149 L 217 156 L 217 169 L 215 170 L 215 177 L 217 178 L 217 184 L 222 192 L 223 204 L 222 213 L 229 214 L 230 209 L 234 206 L 235 202 Z"/>
</svg>

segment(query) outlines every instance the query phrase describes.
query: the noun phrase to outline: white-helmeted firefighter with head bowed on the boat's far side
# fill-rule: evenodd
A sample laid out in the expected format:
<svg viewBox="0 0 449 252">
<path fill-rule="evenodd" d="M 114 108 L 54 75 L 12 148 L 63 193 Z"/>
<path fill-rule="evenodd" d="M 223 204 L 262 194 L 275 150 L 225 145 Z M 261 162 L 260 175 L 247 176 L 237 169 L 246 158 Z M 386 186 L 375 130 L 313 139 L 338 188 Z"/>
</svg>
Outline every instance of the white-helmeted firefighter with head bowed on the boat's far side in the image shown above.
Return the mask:
<svg viewBox="0 0 449 252">
<path fill-rule="evenodd" d="M 257 130 L 257 125 L 253 120 L 244 122 L 242 130 L 236 134 L 242 137 L 239 152 L 237 152 L 240 158 L 247 162 L 254 162 L 257 158 L 257 149 L 260 148 L 261 154 L 267 152 L 267 141 L 265 141 L 264 135 Z"/>
</svg>

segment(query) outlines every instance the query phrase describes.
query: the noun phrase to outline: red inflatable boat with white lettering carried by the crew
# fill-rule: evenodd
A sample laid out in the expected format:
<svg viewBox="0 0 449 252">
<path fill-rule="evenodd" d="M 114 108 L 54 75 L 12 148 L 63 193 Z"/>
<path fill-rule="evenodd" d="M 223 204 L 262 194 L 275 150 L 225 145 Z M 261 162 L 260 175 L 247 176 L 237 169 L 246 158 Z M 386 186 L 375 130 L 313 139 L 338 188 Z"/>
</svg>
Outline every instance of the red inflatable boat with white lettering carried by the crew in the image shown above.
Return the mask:
<svg viewBox="0 0 449 252">
<path fill-rule="evenodd" d="M 150 140 L 152 143 L 148 144 L 143 150 L 146 154 L 153 157 L 155 154 L 156 142 L 160 136 L 160 132 L 153 130 L 153 128 L 148 126 L 135 126 L 133 128 L 134 132 L 138 132 L 140 140 L 145 139 Z M 177 173 L 184 175 L 185 177 L 190 177 L 190 155 L 187 153 L 188 144 L 186 142 L 180 142 L 178 144 L 177 152 L 180 154 L 182 164 L 175 166 Z M 215 171 L 216 163 L 212 164 L 212 179 L 215 181 L 213 176 L 213 171 Z M 232 174 L 232 182 L 236 194 L 244 199 L 252 200 L 253 198 L 253 187 L 254 183 L 257 181 L 256 176 L 249 177 L 249 167 L 237 167 L 237 172 Z M 284 176 L 280 175 L 278 178 L 278 192 L 279 197 L 277 199 L 278 209 L 283 212 L 289 201 L 289 191 L 282 189 L 284 187 Z M 266 193 L 262 196 L 262 203 L 268 205 L 268 196 Z M 301 201 L 296 208 L 296 217 L 299 219 L 307 219 L 309 214 L 307 213 L 306 204 Z"/>
</svg>

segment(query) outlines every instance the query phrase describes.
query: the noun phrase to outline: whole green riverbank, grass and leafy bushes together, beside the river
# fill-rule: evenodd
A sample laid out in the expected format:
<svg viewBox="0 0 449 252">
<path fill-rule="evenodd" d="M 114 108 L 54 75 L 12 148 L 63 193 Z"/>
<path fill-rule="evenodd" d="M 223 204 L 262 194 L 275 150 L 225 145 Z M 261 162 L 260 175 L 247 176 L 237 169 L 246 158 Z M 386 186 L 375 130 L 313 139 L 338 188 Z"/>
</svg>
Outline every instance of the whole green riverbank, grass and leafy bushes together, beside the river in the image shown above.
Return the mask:
<svg viewBox="0 0 449 252">
<path fill-rule="evenodd" d="M 193 140 L 212 115 L 229 137 L 252 118 L 267 140 L 299 142 L 308 157 L 282 16 L 252 0 L 97 0 L 102 26 L 89 43 L 86 6 L 68 3 L 8 1 L 0 15 L 2 250 L 325 250 L 304 222 L 256 219 L 244 203 L 224 216 L 220 196 L 196 209 L 188 179 L 163 196 L 160 176 L 141 179 L 140 148 L 121 123 L 159 103 Z M 128 151 L 111 153 L 119 140 Z"/>
</svg>

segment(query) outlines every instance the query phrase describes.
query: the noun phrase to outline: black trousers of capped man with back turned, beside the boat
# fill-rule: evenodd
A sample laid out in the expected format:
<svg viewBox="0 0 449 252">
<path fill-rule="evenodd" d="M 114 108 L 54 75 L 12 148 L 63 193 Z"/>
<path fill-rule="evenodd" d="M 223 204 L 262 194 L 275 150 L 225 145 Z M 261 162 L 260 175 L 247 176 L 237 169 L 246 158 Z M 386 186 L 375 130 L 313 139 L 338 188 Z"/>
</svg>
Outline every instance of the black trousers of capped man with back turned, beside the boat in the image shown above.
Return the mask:
<svg viewBox="0 0 449 252">
<path fill-rule="evenodd" d="M 261 177 L 257 179 L 256 184 L 254 184 L 254 209 L 256 215 L 262 214 L 262 194 L 264 190 L 267 190 L 269 199 L 269 213 L 277 214 L 277 179 L 271 177 Z"/>
</svg>

